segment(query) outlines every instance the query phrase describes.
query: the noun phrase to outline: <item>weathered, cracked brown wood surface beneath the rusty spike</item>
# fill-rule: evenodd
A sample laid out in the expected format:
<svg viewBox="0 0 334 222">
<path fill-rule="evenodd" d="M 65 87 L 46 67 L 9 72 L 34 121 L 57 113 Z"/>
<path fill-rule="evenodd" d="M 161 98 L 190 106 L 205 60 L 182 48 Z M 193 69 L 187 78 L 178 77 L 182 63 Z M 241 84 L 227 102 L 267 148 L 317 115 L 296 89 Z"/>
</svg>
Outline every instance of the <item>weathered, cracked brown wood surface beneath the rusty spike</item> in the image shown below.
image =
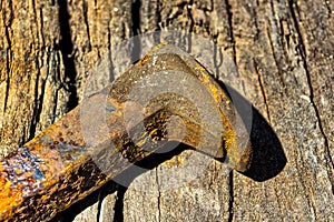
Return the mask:
<svg viewBox="0 0 334 222">
<path fill-rule="evenodd" d="M 321 0 L 0 0 L 1 152 L 76 107 L 90 71 L 121 40 L 195 32 L 222 47 L 245 80 L 229 84 L 254 105 L 250 171 L 226 175 L 213 161 L 196 180 L 161 190 L 183 153 L 128 188 L 110 182 L 55 221 L 333 221 L 333 11 Z"/>
</svg>

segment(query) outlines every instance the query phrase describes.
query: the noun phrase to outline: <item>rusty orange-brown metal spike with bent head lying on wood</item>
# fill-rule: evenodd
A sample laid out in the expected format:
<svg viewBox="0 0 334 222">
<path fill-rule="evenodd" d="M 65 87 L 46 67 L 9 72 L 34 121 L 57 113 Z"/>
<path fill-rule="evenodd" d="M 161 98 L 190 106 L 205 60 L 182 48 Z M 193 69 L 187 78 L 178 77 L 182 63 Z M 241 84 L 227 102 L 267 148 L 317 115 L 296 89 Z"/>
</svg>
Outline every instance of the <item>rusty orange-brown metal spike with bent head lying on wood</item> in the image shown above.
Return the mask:
<svg viewBox="0 0 334 222">
<path fill-rule="evenodd" d="M 165 85 L 166 79 L 170 84 Z M 178 91 L 173 88 L 176 83 Z M 140 113 L 131 94 L 138 84 L 166 87 Z M 82 114 L 82 109 L 100 104 L 97 101 L 105 102 L 107 133 L 99 134 L 106 127 L 85 124 L 96 113 Z M 137 115 L 144 115 L 143 121 Z M 170 121 L 173 117 L 177 118 Z M 230 98 L 202 64 L 174 46 L 160 44 L 0 161 L 0 221 L 48 221 L 171 141 L 246 171 L 252 149 L 245 125 L 235 125 L 236 117 Z M 87 141 L 82 131 L 97 131 L 96 143 Z"/>
</svg>

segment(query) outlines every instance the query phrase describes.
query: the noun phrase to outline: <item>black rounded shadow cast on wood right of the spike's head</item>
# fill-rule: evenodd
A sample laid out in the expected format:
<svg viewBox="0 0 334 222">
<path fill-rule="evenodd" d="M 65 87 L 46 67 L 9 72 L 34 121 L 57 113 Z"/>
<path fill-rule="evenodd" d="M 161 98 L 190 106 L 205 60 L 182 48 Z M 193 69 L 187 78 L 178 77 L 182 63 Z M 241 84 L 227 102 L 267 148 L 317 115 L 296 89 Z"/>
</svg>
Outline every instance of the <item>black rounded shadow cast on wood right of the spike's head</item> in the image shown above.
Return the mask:
<svg viewBox="0 0 334 222">
<path fill-rule="evenodd" d="M 233 95 L 236 109 L 239 113 L 247 113 L 244 109 L 252 109 L 250 115 L 240 114 L 245 124 L 250 127 L 250 143 L 253 148 L 253 160 L 250 168 L 243 174 L 255 181 L 263 182 L 276 176 L 286 165 L 286 157 L 282 144 L 265 118 L 243 95 L 227 84 L 219 81 L 219 85 Z"/>
</svg>

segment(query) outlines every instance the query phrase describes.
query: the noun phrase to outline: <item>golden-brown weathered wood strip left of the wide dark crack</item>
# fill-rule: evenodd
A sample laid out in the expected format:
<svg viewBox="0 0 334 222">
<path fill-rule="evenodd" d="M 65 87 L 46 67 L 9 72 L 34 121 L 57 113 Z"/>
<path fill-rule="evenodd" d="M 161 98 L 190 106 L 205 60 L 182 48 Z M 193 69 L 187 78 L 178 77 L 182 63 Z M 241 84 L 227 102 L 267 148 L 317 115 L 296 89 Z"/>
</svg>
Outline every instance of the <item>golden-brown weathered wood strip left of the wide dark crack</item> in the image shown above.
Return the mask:
<svg viewBox="0 0 334 222">
<path fill-rule="evenodd" d="M 8 154 L 68 111 L 59 9 L 52 1 L 1 1 L 0 150 Z"/>
</svg>

